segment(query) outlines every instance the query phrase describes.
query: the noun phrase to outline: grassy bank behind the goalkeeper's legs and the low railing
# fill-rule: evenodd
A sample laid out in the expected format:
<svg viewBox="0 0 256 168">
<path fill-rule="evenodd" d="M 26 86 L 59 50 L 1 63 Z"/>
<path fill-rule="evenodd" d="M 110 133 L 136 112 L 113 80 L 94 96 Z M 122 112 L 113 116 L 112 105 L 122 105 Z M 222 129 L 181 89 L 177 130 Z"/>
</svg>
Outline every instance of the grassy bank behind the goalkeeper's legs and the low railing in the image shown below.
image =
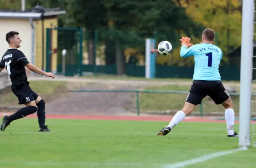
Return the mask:
<svg viewBox="0 0 256 168">
<path fill-rule="evenodd" d="M 190 86 L 186 85 L 166 85 L 146 87 L 145 90 L 176 90 L 188 92 Z M 140 94 L 140 109 L 145 110 L 181 110 L 184 106 L 187 94 L 169 94 L 169 93 L 141 93 Z M 239 96 L 231 96 L 233 99 L 233 108 L 236 113 L 239 113 Z M 256 109 L 256 104 L 253 104 Z M 198 105 L 195 111 L 200 111 Z M 221 105 L 216 105 L 208 96 L 203 99 L 203 112 L 223 112 L 224 108 Z"/>
</svg>

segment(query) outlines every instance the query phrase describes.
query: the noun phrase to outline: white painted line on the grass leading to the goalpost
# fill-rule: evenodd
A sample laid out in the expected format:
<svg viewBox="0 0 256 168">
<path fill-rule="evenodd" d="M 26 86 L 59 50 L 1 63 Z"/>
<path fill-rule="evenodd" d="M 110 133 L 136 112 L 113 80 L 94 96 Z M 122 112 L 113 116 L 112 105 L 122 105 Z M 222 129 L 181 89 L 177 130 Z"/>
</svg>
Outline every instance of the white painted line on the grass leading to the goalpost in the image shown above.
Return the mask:
<svg viewBox="0 0 256 168">
<path fill-rule="evenodd" d="M 216 158 L 216 157 L 220 157 L 220 156 L 224 156 L 227 154 L 234 154 L 237 151 L 241 151 L 242 149 L 232 149 L 229 151 L 221 151 L 221 152 L 217 152 L 217 153 L 212 153 L 212 154 L 208 154 L 208 155 L 204 155 L 204 156 L 200 156 L 194 159 L 190 159 L 190 160 L 186 160 L 183 162 L 177 162 L 177 163 L 173 163 L 173 164 L 169 164 L 166 166 L 163 166 L 162 168 L 184 168 L 188 165 L 194 165 L 196 163 L 200 163 L 200 162 L 205 162 L 207 160 Z"/>
</svg>

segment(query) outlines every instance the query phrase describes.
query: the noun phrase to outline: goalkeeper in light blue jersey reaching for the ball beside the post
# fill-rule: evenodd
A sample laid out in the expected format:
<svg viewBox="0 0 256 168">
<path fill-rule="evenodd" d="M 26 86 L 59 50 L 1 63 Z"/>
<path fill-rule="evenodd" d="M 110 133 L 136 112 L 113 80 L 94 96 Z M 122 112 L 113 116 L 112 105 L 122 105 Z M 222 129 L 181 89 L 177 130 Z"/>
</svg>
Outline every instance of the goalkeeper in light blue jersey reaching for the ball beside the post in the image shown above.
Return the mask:
<svg viewBox="0 0 256 168">
<path fill-rule="evenodd" d="M 213 29 L 205 29 L 202 33 L 202 42 L 200 44 L 193 45 L 189 43 L 190 40 L 188 37 L 180 39 L 180 56 L 188 58 L 194 55 L 193 83 L 183 109 L 178 111 L 169 125 L 160 130 L 157 135 L 168 134 L 173 127 L 192 113 L 197 104 L 201 104 L 205 96 L 209 96 L 215 104 L 222 104 L 225 108 L 227 136 L 238 137 L 238 134 L 233 131 L 235 123 L 233 102 L 221 82 L 219 73 L 222 51 L 218 46 L 212 44 L 215 40 L 215 31 Z"/>
</svg>

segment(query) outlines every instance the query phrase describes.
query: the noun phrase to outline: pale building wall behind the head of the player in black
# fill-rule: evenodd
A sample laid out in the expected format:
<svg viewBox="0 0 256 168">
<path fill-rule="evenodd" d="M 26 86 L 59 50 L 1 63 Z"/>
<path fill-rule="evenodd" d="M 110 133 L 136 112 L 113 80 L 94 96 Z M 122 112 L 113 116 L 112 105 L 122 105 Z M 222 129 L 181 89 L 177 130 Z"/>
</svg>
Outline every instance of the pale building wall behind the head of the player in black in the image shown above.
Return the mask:
<svg viewBox="0 0 256 168">
<path fill-rule="evenodd" d="M 29 19 L 3 19 L 0 18 L 0 57 L 9 48 L 6 42 L 6 33 L 10 31 L 19 32 L 22 40 L 19 50 L 22 51 L 28 61 L 31 61 L 32 52 L 32 27 L 30 26 Z"/>
</svg>

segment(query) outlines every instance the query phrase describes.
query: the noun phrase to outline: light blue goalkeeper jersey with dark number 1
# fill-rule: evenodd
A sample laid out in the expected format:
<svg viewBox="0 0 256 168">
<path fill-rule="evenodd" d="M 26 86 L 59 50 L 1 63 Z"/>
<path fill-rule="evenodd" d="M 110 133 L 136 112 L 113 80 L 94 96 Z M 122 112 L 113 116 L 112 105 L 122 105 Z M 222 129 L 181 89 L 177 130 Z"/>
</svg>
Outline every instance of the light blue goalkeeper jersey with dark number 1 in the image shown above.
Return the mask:
<svg viewBox="0 0 256 168">
<path fill-rule="evenodd" d="M 209 43 L 195 44 L 188 49 L 181 46 L 181 57 L 187 58 L 192 55 L 194 55 L 195 60 L 193 80 L 221 81 L 219 64 L 222 51 L 218 46 Z"/>
</svg>

